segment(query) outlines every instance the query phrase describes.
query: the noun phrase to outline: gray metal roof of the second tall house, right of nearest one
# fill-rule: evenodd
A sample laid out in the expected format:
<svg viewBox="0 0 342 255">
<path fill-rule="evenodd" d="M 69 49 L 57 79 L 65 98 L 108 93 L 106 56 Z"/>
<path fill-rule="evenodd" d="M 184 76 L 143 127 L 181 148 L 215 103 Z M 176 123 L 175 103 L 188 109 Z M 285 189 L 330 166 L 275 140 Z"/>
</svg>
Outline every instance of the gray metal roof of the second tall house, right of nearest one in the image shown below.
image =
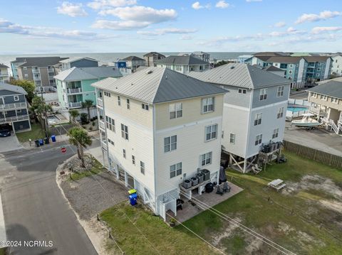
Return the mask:
<svg viewBox="0 0 342 255">
<path fill-rule="evenodd" d="M 251 89 L 291 83 L 279 75 L 242 63 L 228 63 L 204 72 L 190 72 L 189 75 L 204 82 Z"/>
</svg>

